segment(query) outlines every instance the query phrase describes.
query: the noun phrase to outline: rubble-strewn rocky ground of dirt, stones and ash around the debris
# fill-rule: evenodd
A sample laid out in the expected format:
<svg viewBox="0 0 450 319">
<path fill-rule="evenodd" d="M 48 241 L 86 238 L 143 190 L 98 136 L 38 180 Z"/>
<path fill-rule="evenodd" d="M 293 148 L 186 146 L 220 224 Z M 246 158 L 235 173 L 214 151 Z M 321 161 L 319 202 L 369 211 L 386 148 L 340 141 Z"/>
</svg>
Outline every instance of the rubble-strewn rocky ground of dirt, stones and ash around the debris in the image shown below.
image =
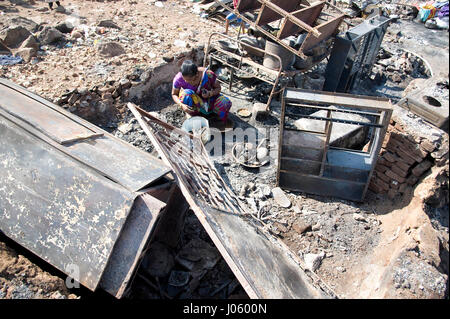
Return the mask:
<svg viewBox="0 0 450 319">
<path fill-rule="evenodd" d="M 23 47 L 23 43 L 11 45 L 9 50 L 13 53 L 23 51 L 25 63 L 2 66 L 0 76 L 79 115 L 82 115 L 78 110 L 83 100 L 70 104 L 68 100 L 61 102 L 61 98 L 69 99 L 75 91 L 84 96 L 84 91 L 92 93 L 93 88 L 98 87 L 94 93 L 99 101 L 110 101 L 108 110 L 114 116 L 106 124 L 94 123 L 157 155 L 137 121 L 125 109 L 123 100 L 113 98 L 117 87 L 110 83 L 120 82 L 121 89 L 128 88 L 128 83 L 134 86 L 144 70 L 176 60 L 187 50 L 204 45 L 209 33 L 223 31 L 223 25 L 201 18 L 191 1 L 89 1 L 89 6 L 83 5 L 85 3 L 63 1 L 64 11 L 57 12 L 46 10 L 46 4 L 40 1 L 0 1 L 0 34 L 3 28 L 19 19 L 41 42 L 36 52 L 27 50 L 30 48 Z M 409 19 L 408 12 L 401 13 L 404 20 Z M 24 21 L 24 17 L 34 24 Z M 47 27 L 55 27 L 59 33 L 50 32 Z M 29 38 L 26 31 L 20 32 Z M 50 40 L 46 39 L 50 35 L 56 38 L 42 45 Z M 397 30 L 386 35 L 366 92 L 384 94 L 395 101 L 412 80 L 430 75 L 420 58 L 397 46 L 394 49 L 392 44 L 399 44 L 401 38 Z M 325 67 L 324 62 L 296 76 L 293 85 L 320 89 Z M 108 90 L 102 91 L 105 87 Z M 380 89 L 386 87 L 396 89 Z M 231 92 L 226 88 L 224 92 L 233 101 L 231 118 L 235 127 L 258 129 L 259 134 L 269 139 L 270 151 L 276 158 L 280 102 L 275 100 L 271 114 L 258 117 L 254 124 L 236 115 L 239 108 L 251 110 L 254 102 L 266 102 L 268 89 L 270 87 L 260 82 L 243 80 Z M 178 127 L 185 119 L 171 101 L 170 83 L 158 86 L 157 94 L 139 104 Z M 436 197 L 439 187 L 448 189 L 448 183 L 445 186 L 442 182 L 439 186 L 436 182 L 441 176 L 448 177 L 448 169 L 433 168 L 424 181 L 428 186 L 411 188 L 394 201 L 370 191 L 362 204 L 286 192 L 290 205 L 282 207 L 270 191 L 275 187 L 276 161 L 259 169 L 246 168 L 235 163 L 230 155 L 233 143 L 226 141 L 225 145 L 228 149 L 223 156 L 213 156 L 224 180 L 249 207 L 260 211 L 265 227 L 282 238 L 339 297 L 448 298 L 448 201 L 430 200 Z M 131 298 L 245 297 L 242 287 L 191 212 L 187 214 L 182 237 L 184 245 L 177 251 L 159 248 L 170 266 L 161 276 L 164 277 L 162 282 L 157 282 L 151 271 L 144 278 L 137 277 Z M 64 276 L 52 273 L 51 269 L 43 270 L 44 265 L 35 265 L 17 253 L 20 247 L 11 248 L 11 245 L 0 237 L 0 298 L 95 298 L 95 294 L 89 292 L 68 291 Z M 211 262 L 201 265 L 204 272 L 196 277 L 198 282 L 191 281 L 192 289 L 185 289 L 187 283 L 181 285 L 180 282 L 185 279 L 186 269 L 180 267 L 175 256 L 183 249 L 189 251 L 190 245 L 203 247 Z M 151 265 L 147 264 L 147 270 L 151 270 Z M 178 288 L 168 284 L 174 280 L 180 284 Z"/>
</svg>

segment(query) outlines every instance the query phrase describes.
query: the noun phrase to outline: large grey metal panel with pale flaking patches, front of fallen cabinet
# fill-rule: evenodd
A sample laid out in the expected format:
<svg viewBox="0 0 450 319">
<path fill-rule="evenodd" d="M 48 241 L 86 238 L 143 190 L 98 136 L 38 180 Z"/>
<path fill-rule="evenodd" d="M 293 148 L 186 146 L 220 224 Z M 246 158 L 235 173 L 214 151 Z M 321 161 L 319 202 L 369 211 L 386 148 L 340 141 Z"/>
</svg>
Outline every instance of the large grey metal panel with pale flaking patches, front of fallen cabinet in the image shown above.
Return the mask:
<svg viewBox="0 0 450 319">
<path fill-rule="evenodd" d="M 0 116 L 0 229 L 95 290 L 135 195 Z"/>
</svg>

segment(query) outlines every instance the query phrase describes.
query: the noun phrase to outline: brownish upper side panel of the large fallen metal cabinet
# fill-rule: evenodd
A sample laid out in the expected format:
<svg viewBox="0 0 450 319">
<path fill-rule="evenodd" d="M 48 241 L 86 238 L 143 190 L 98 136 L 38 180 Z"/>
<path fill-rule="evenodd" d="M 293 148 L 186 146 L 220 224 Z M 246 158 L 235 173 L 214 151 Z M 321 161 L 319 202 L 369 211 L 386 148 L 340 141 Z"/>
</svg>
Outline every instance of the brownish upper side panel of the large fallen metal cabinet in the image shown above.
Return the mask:
<svg viewBox="0 0 450 319">
<path fill-rule="evenodd" d="M 170 171 L 147 152 L 5 79 L 0 79 L 0 110 L 8 112 L 15 123 L 38 130 L 40 138 L 55 148 L 132 191 Z M 88 132 L 92 135 L 79 139 L 80 132 L 85 132 L 85 137 Z M 63 145 L 61 141 L 65 141 Z"/>
</svg>

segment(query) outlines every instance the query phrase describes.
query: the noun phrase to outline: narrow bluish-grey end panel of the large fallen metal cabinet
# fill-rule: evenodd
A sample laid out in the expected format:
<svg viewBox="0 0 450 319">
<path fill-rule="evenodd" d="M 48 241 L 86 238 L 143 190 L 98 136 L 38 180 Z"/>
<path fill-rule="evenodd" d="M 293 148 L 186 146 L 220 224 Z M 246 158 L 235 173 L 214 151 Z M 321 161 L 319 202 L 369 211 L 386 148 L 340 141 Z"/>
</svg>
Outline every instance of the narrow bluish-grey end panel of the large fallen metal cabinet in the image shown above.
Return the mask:
<svg viewBox="0 0 450 319">
<path fill-rule="evenodd" d="M 166 204 L 149 194 L 136 198 L 100 281 L 116 298 L 126 293 L 141 262 L 142 252 Z"/>
</svg>

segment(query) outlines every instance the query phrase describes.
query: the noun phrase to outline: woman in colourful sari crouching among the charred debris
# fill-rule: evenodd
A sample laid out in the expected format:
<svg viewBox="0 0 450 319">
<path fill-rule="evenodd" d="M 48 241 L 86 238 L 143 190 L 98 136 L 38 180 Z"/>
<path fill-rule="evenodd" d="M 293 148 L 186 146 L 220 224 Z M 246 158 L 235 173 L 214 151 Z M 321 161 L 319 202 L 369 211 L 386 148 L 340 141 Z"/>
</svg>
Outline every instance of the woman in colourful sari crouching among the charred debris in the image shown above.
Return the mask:
<svg viewBox="0 0 450 319">
<path fill-rule="evenodd" d="M 231 108 L 229 98 L 221 94 L 221 86 L 211 70 L 197 67 L 186 60 L 181 65 L 181 72 L 173 79 L 172 98 L 187 117 L 199 114 L 216 114 L 226 122 Z"/>
</svg>

